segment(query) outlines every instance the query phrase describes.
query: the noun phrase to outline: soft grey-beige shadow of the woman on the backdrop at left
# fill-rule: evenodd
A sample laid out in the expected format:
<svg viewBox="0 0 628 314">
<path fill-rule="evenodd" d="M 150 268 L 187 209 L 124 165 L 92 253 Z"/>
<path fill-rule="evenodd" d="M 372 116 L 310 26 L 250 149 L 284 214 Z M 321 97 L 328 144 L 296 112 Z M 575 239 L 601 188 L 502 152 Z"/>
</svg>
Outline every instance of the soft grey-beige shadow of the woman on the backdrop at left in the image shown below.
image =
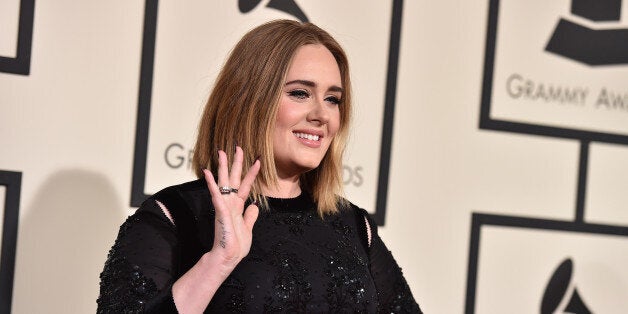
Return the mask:
<svg viewBox="0 0 628 314">
<path fill-rule="evenodd" d="M 20 221 L 13 312 L 95 313 L 98 277 L 125 210 L 99 173 L 51 175 Z"/>
</svg>

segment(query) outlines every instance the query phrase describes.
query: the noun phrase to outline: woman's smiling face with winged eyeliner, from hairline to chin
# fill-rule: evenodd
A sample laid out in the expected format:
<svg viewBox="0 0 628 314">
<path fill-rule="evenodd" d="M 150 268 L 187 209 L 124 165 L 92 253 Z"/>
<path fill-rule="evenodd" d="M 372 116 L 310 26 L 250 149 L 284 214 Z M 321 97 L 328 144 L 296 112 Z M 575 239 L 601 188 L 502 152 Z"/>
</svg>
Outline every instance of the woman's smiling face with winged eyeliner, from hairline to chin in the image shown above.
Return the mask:
<svg viewBox="0 0 628 314">
<path fill-rule="evenodd" d="M 273 134 L 280 178 L 320 164 L 340 127 L 342 84 L 336 59 L 323 45 L 297 51 L 284 82 Z"/>
</svg>

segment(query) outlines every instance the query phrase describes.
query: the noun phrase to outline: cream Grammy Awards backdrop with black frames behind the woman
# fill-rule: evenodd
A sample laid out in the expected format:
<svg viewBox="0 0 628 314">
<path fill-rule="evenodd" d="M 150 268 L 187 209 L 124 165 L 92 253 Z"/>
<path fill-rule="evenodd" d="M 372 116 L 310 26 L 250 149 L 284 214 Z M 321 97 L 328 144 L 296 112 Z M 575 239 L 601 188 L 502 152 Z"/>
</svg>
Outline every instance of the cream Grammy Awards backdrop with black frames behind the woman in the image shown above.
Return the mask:
<svg viewBox="0 0 628 314">
<path fill-rule="evenodd" d="M 425 312 L 628 311 L 628 3 L 2 0 L 0 313 L 95 311 L 118 226 L 193 179 L 225 56 L 276 18 L 346 48 L 346 193 Z"/>
</svg>

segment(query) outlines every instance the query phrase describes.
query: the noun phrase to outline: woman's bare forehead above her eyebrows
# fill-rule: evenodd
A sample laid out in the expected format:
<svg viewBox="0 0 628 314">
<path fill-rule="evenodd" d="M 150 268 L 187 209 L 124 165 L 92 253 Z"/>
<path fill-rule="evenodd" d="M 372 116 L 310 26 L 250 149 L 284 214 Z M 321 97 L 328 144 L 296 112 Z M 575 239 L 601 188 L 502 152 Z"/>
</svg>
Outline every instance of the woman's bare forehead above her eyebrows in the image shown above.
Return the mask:
<svg viewBox="0 0 628 314">
<path fill-rule="evenodd" d="M 320 44 L 297 49 L 288 68 L 286 80 L 306 79 L 319 84 L 341 85 L 340 69 L 334 55 Z"/>
</svg>

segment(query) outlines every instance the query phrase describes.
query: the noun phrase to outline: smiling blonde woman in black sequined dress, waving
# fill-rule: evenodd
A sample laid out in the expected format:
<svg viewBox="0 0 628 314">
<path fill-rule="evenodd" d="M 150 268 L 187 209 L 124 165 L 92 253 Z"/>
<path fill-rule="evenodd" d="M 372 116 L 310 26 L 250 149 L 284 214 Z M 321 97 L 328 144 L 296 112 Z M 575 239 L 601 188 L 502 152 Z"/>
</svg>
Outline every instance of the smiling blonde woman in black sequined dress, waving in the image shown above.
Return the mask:
<svg viewBox="0 0 628 314">
<path fill-rule="evenodd" d="M 122 225 L 98 311 L 420 312 L 368 213 L 338 196 L 350 114 L 328 33 L 287 20 L 247 33 L 203 112 L 201 179 Z"/>
</svg>

